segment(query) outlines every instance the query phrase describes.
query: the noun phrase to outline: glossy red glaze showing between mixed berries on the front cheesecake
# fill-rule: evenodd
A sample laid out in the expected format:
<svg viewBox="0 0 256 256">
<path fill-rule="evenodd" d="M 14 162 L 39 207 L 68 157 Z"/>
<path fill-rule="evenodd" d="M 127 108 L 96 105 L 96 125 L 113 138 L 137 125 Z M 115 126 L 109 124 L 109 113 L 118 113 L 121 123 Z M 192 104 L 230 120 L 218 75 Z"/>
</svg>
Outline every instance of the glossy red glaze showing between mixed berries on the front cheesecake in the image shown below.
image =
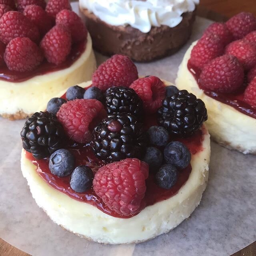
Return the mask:
<svg viewBox="0 0 256 256">
<path fill-rule="evenodd" d="M 66 95 L 62 96 L 62 98 L 66 98 Z M 144 119 L 144 128 L 147 130 L 150 126 L 156 125 L 156 116 L 145 117 Z M 201 152 L 204 148 L 202 147 L 202 142 L 204 139 L 204 134 L 206 134 L 206 129 L 204 126 L 201 130 L 198 130 L 193 136 L 186 139 L 178 139 L 172 138 L 172 140 L 178 140 L 183 142 L 192 154 L 192 158 L 198 153 Z M 89 166 L 94 174 L 97 170 L 105 165 L 105 163 L 96 156 L 94 156 L 90 146 L 86 146 L 84 144 L 77 144 L 72 142 L 71 140 L 68 142 L 67 148 L 74 154 L 76 158 L 76 166 L 79 165 L 87 165 Z M 92 204 L 96 206 L 102 212 L 109 214 L 111 216 L 117 218 L 131 218 L 134 215 L 123 216 L 117 214 L 116 212 L 110 210 L 102 201 L 101 199 L 95 194 L 94 190 L 91 188 L 90 190 L 86 191 L 85 193 L 77 193 L 70 188 L 70 175 L 66 177 L 58 177 L 53 175 L 48 167 L 49 158 L 44 158 L 42 160 L 35 160 L 32 154 L 26 152 L 26 158 L 30 160 L 35 166 L 38 174 L 47 182 L 50 186 L 59 190 L 60 192 L 67 194 L 71 198 L 74 198 L 78 201 Z M 148 179 L 146 180 L 146 194 L 143 201 L 142 209 L 146 206 L 150 206 L 155 204 L 156 202 L 160 202 L 162 200 L 166 200 L 171 196 L 174 196 L 180 188 L 186 183 L 188 180 L 190 173 L 192 171 L 191 165 L 189 165 L 184 170 L 180 170 L 178 172 L 178 180 L 176 184 L 170 189 L 166 190 L 164 188 L 158 187 L 154 182 L 154 175 L 149 174 Z M 138 214 L 138 213 L 137 213 Z"/>
</svg>

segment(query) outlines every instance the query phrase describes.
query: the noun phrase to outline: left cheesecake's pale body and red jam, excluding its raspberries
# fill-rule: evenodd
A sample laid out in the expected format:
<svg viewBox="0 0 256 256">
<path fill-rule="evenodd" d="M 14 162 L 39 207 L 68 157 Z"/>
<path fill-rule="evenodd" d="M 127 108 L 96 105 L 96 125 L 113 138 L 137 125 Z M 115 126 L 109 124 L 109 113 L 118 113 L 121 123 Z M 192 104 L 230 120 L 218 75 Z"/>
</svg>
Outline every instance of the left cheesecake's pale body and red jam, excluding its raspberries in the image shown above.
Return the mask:
<svg viewBox="0 0 256 256">
<path fill-rule="evenodd" d="M 45 62 L 25 74 L 1 72 L 0 116 L 10 120 L 26 118 L 61 90 L 91 79 L 96 60 L 90 35 L 72 50 L 69 58 L 57 67 Z"/>
</svg>

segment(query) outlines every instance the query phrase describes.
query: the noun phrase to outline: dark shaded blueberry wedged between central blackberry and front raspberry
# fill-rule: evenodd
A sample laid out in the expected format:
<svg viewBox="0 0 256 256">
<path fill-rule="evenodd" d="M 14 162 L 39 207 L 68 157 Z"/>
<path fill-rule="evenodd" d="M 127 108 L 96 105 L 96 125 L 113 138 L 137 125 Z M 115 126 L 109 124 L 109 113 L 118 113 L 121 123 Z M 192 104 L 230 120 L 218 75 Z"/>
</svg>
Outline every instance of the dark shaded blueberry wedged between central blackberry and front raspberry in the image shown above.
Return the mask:
<svg viewBox="0 0 256 256">
<path fill-rule="evenodd" d="M 156 173 L 163 162 L 162 152 L 157 148 L 148 147 L 142 161 L 148 164 L 150 172 Z"/>
</svg>

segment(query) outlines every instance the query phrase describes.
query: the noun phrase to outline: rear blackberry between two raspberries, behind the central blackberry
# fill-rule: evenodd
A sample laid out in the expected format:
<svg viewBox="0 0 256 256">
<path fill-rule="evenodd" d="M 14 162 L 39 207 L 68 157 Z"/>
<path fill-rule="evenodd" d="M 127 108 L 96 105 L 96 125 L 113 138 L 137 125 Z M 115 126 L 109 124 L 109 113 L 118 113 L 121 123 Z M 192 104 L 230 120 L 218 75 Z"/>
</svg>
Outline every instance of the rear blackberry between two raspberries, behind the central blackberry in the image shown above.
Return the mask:
<svg viewBox="0 0 256 256">
<path fill-rule="evenodd" d="M 139 116 L 143 103 L 132 88 L 111 87 L 106 91 L 106 107 L 108 114 L 130 113 Z"/>
</svg>

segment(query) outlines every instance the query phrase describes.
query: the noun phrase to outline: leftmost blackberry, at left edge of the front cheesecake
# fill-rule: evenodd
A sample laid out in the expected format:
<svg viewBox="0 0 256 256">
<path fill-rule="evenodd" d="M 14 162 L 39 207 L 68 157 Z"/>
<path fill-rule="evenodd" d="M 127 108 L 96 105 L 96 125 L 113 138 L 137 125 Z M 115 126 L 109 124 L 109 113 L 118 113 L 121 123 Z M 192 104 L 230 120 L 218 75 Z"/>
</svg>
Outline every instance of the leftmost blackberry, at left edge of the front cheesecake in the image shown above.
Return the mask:
<svg viewBox="0 0 256 256">
<path fill-rule="evenodd" d="M 36 112 L 26 120 L 20 132 L 23 148 L 34 158 L 42 159 L 62 148 L 65 133 L 56 116 L 49 112 Z"/>
</svg>

